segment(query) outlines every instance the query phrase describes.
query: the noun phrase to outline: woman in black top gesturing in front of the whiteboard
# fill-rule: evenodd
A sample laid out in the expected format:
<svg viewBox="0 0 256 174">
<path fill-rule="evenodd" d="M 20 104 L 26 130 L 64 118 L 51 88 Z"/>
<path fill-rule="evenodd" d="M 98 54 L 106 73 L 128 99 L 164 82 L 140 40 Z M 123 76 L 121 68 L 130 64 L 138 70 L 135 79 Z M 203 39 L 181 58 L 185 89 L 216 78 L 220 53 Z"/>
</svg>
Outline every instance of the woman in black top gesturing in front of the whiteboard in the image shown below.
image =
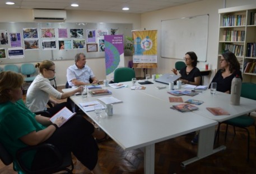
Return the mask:
<svg viewBox="0 0 256 174">
<path fill-rule="evenodd" d="M 193 51 L 187 52 L 184 57 L 187 66 L 180 70 L 180 80 L 184 84 L 200 85 L 201 73 L 197 66 L 197 55 Z M 174 74 L 178 74 L 176 69 L 172 70 Z"/>
</svg>

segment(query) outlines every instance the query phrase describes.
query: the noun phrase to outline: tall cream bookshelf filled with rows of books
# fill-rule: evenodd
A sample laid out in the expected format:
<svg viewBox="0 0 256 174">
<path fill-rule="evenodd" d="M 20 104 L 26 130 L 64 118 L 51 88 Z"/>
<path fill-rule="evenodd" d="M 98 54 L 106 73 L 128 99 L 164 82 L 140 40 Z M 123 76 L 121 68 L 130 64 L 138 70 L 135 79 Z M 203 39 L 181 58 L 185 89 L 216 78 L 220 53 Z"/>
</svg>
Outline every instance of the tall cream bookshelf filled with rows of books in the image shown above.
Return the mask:
<svg viewBox="0 0 256 174">
<path fill-rule="evenodd" d="M 256 6 L 223 8 L 218 13 L 218 61 L 222 52 L 232 51 L 240 62 L 243 81 L 256 82 Z"/>
</svg>

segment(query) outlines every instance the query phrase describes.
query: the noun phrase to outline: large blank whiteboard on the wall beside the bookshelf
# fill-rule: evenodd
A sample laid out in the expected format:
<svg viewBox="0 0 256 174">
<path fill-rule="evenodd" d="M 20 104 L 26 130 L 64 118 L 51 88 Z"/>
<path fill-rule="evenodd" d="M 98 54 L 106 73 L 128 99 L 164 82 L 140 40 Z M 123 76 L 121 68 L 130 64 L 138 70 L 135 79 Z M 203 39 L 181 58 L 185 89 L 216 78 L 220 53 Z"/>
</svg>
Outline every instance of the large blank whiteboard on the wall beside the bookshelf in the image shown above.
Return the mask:
<svg viewBox="0 0 256 174">
<path fill-rule="evenodd" d="M 161 57 L 183 59 L 194 51 L 206 61 L 209 15 L 161 21 Z"/>
</svg>

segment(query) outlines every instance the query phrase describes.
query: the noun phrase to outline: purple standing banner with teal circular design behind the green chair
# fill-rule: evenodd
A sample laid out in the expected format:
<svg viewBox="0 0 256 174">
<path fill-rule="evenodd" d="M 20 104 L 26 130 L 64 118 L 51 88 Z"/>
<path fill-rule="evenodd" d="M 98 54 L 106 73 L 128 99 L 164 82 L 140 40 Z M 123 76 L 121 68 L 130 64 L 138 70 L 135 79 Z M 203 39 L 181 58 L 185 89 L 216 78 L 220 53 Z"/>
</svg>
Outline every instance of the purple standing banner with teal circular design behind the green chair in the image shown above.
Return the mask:
<svg viewBox="0 0 256 174">
<path fill-rule="evenodd" d="M 105 35 L 106 79 L 113 80 L 114 70 L 124 66 L 123 35 Z"/>
</svg>

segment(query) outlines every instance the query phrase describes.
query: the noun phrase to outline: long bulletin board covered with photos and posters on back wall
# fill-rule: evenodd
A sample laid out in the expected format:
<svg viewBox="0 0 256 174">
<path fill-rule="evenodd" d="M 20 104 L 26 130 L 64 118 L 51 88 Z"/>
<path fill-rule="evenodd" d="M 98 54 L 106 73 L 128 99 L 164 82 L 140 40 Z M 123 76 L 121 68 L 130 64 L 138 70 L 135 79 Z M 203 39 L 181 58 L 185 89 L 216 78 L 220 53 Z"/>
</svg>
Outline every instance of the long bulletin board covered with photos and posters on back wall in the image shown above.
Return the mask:
<svg viewBox="0 0 256 174">
<path fill-rule="evenodd" d="M 132 23 L 0 22 L 0 64 L 105 57 L 103 35 L 132 36 Z"/>
</svg>

